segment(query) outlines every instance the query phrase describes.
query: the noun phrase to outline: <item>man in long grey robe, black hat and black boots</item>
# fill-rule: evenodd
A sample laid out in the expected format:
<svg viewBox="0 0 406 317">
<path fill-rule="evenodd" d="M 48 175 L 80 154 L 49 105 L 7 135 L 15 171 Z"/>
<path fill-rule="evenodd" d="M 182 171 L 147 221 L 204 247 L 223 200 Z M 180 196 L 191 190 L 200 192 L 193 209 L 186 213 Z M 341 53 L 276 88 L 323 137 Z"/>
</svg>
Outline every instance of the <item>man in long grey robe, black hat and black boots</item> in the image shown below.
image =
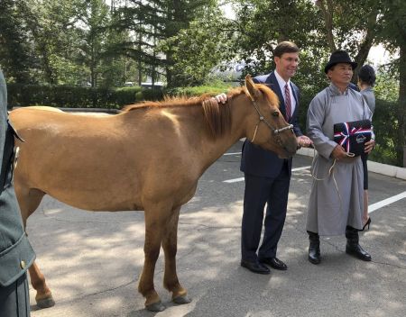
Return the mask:
<svg viewBox="0 0 406 317">
<path fill-rule="evenodd" d="M 346 51 L 333 52 L 325 68 L 331 84 L 309 105 L 307 132 L 318 151 L 312 165 L 314 179 L 306 228 L 309 261 L 313 264 L 320 263 L 319 235 L 346 234 L 346 253 L 371 260 L 358 243 L 364 209 L 361 157 L 349 157 L 333 137 L 335 123 L 371 120 L 372 117 L 362 95 L 348 88 L 355 67 L 356 63 Z M 373 148 L 374 140 L 365 143 L 365 152 Z"/>
</svg>

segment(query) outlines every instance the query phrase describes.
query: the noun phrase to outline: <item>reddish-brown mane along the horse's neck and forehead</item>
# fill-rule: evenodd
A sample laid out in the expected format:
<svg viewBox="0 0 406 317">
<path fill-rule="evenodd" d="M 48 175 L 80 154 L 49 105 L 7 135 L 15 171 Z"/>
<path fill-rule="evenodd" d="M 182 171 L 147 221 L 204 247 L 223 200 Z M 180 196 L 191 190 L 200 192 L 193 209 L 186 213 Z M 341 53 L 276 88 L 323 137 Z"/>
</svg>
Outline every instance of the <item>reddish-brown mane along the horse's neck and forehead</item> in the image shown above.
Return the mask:
<svg viewBox="0 0 406 317">
<path fill-rule="evenodd" d="M 272 93 L 272 90 L 265 85 L 256 84 L 258 88 L 272 104 L 279 104 L 278 97 Z M 230 101 L 238 95 L 248 95 L 245 86 L 236 87 L 230 90 L 227 94 L 227 100 Z M 180 107 L 180 106 L 201 106 L 205 114 L 205 119 L 208 124 L 210 135 L 216 139 L 225 135 L 231 130 L 231 111 L 230 103 L 221 104 L 217 103 L 216 99 L 209 94 L 200 95 L 198 97 L 188 98 L 186 96 L 171 97 L 165 96 L 161 102 L 143 102 L 139 104 L 129 104 L 123 108 L 123 113 L 138 109 L 149 108 L 166 108 L 166 107 Z"/>
</svg>

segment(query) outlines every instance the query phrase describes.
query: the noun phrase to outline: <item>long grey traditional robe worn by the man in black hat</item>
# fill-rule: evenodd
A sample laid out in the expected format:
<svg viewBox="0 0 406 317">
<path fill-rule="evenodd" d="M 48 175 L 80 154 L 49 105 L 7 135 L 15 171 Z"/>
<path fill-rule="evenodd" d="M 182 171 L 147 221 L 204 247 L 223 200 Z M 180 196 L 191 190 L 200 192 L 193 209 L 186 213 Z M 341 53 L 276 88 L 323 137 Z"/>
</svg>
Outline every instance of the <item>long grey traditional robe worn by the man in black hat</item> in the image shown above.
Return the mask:
<svg viewBox="0 0 406 317">
<path fill-rule="evenodd" d="M 339 160 L 331 175 L 328 171 L 334 162 L 331 152 L 337 146 L 334 125 L 371 120 L 371 117 L 360 93 L 346 89 L 341 94 L 334 84 L 318 93 L 309 104 L 307 131 L 317 150 L 312 170 L 314 177 L 323 180 L 313 180 L 307 231 L 331 236 L 344 234 L 347 225 L 359 230 L 363 228 L 364 170 L 361 158 Z"/>
</svg>

